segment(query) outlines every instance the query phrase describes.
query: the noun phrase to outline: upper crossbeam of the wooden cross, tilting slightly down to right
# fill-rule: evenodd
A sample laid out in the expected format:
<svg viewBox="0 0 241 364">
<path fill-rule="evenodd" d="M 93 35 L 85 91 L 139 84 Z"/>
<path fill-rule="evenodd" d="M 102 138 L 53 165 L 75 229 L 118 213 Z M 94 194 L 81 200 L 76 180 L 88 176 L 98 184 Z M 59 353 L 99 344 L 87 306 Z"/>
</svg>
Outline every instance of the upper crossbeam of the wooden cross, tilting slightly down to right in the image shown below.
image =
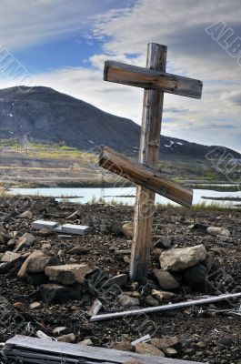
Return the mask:
<svg viewBox="0 0 241 364">
<path fill-rule="evenodd" d="M 203 88 L 202 81 L 193 78 L 114 61 L 105 61 L 104 80 L 193 98 L 201 98 Z"/>
</svg>

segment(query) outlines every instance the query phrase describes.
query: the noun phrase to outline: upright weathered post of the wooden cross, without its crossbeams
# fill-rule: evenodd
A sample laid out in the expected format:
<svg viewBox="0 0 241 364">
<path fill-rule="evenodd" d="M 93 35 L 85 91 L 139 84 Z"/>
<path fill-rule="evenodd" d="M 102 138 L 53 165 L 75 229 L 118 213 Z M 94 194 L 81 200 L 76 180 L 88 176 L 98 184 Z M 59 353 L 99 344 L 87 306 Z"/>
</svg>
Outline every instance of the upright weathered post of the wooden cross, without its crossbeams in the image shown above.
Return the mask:
<svg viewBox="0 0 241 364">
<path fill-rule="evenodd" d="M 165 73 L 166 50 L 166 45 L 148 44 L 146 68 Z M 157 170 L 159 161 L 163 98 L 162 91 L 144 91 L 139 161 L 154 170 Z M 154 212 L 155 193 L 137 187 L 130 278 L 142 283 L 146 283 L 148 275 Z"/>
</svg>

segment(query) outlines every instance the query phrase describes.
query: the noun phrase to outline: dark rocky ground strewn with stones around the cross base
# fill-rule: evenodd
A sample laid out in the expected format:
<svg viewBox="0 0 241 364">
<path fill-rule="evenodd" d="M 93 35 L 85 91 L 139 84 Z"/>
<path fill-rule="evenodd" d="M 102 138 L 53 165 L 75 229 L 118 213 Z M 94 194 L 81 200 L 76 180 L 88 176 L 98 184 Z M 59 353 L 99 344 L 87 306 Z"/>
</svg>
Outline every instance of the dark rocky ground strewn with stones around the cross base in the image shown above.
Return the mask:
<svg viewBox="0 0 241 364">
<path fill-rule="evenodd" d="M 241 292 L 240 212 L 157 209 L 146 285 L 128 279 L 132 225 L 125 223 L 132 218 L 132 207 L 0 198 L 0 342 L 40 330 L 63 341 L 135 350 L 130 342 L 150 334 L 152 341 L 137 345 L 136 352 L 240 364 L 237 300 L 90 322 L 96 298 L 106 313 Z M 35 230 L 36 219 L 88 225 L 91 231 L 64 238 Z"/>
</svg>

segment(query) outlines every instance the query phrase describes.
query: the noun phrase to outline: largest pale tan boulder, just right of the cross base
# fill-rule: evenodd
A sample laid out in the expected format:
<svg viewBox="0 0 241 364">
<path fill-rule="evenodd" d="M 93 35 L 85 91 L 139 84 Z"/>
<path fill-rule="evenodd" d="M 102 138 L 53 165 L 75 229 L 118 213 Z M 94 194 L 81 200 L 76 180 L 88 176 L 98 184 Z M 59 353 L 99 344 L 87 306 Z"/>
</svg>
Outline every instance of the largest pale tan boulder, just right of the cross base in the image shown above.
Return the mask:
<svg viewBox="0 0 241 364">
<path fill-rule="evenodd" d="M 194 267 L 206 259 L 206 248 L 203 244 L 188 248 L 175 248 L 164 251 L 160 257 L 163 270 L 178 272 Z"/>
</svg>

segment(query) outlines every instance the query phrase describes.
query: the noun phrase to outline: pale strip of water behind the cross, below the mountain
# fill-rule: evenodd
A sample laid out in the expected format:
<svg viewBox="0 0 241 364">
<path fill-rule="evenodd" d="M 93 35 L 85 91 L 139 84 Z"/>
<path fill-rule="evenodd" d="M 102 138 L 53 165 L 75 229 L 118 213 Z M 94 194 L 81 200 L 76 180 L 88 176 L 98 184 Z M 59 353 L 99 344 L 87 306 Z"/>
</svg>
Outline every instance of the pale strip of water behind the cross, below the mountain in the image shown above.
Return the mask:
<svg viewBox="0 0 241 364">
<path fill-rule="evenodd" d="M 31 195 L 31 196 L 47 196 L 47 197 L 68 197 L 68 201 L 85 204 L 93 201 L 95 197 L 98 200 L 102 196 L 101 188 L 69 188 L 69 187 L 47 187 L 47 188 L 12 188 L 11 193 L 14 195 Z M 122 202 L 126 205 L 135 204 L 136 187 L 108 187 L 105 188 L 105 202 L 111 203 L 112 200 L 116 202 Z M 123 197 L 125 196 L 125 197 Z M 214 201 L 209 199 L 203 199 L 202 197 L 241 197 L 241 191 L 236 192 L 222 192 L 213 191 L 211 189 L 194 189 L 194 204 L 206 202 L 206 205 L 210 205 L 214 202 L 220 205 L 236 205 L 237 201 Z M 63 198 L 56 198 L 62 200 Z M 169 199 L 156 195 L 156 203 L 164 204 L 170 203 Z M 174 205 L 176 203 L 172 202 Z"/>
</svg>

